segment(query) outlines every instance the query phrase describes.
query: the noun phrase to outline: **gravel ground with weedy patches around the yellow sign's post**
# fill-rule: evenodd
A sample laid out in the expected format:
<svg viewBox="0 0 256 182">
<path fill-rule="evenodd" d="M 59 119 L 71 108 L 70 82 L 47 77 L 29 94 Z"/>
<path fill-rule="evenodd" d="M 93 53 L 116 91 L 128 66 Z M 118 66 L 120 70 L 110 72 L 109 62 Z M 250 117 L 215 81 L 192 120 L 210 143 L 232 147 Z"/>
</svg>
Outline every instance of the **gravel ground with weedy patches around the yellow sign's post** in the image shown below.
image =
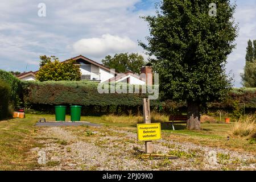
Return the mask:
<svg viewBox="0 0 256 182">
<path fill-rule="evenodd" d="M 177 159 L 143 159 L 144 143 L 137 134 L 112 127 L 42 127 L 36 140 L 46 164 L 36 170 L 255 170 L 255 156 L 221 148 L 159 140 L 156 154 Z"/>
</svg>

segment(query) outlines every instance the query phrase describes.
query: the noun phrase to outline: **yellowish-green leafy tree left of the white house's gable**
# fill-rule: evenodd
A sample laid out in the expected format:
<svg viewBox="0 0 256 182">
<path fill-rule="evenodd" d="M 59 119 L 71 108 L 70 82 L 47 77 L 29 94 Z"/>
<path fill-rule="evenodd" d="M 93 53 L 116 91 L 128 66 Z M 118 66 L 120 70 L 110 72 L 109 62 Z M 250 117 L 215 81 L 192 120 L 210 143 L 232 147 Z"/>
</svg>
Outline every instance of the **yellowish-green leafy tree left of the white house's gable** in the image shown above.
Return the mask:
<svg viewBox="0 0 256 182">
<path fill-rule="evenodd" d="M 81 72 L 79 65 L 76 65 L 75 60 L 60 62 L 55 56 L 47 57 L 40 56 L 40 69 L 36 73 L 36 78 L 39 81 L 79 81 L 81 80 Z M 53 59 L 53 60 L 52 60 Z"/>
</svg>

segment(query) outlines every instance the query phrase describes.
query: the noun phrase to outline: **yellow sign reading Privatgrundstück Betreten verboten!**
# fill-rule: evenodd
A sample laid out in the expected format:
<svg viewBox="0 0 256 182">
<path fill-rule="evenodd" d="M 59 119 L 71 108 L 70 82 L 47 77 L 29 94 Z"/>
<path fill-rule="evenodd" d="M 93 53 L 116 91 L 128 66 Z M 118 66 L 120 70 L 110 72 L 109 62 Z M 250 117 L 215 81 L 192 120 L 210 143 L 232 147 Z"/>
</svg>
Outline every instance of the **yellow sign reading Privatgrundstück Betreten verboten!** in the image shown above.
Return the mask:
<svg viewBox="0 0 256 182">
<path fill-rule="evenodd" d="M 162 139 L 161 124 L 160 123 L 138 124 L 137 134 L 138 134 L 138 141 L 160 140 Z"/>
</svg>

